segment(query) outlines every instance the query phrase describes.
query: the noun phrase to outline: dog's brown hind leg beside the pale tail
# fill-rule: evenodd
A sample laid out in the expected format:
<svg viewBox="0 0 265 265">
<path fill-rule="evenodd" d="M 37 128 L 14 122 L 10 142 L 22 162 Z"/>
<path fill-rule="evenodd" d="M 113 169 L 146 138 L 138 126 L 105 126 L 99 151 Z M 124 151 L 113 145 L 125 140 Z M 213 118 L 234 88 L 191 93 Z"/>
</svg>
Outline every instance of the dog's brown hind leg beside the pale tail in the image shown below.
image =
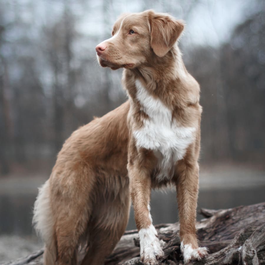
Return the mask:
<svg viewBox="0 0 265 265">
<path fill-rule="evenodd" d="M 80 167 L 68 174 L 54 174 L 51 180 L 56 265 L 77 264 L 78 244 L 87 231 L 92 212 L 93 178 L 87 176 L 91 173 Z"/>
</svg>

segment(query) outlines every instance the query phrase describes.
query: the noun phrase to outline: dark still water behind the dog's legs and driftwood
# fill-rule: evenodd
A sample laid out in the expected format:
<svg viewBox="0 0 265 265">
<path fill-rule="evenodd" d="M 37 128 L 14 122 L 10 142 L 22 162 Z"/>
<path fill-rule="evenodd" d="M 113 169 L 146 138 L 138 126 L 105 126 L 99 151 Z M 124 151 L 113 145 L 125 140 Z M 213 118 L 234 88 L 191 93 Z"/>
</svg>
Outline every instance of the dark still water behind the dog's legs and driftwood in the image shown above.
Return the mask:
<svg viewBox="0 0 265 265">
<path fill-rule="evenodd" d="M 32 208 L 36 195 L 1 195 L 0 196 L 0 234 L 16 234 L 29 236 L 32 230 Z M 265 185 L 245 187 L 241 189 L 201 190 L 198 199 L 200 208 L 230 208 L 265 201 Z M 175 191 L 154 191 L 151 198 L 151 214 L 153 223 L 174 223 L 178 220 Z M 198 219 L 201 216 L 198 215 Z M 135 229 L 133 209 L 127 230 Z"/>
</svg>

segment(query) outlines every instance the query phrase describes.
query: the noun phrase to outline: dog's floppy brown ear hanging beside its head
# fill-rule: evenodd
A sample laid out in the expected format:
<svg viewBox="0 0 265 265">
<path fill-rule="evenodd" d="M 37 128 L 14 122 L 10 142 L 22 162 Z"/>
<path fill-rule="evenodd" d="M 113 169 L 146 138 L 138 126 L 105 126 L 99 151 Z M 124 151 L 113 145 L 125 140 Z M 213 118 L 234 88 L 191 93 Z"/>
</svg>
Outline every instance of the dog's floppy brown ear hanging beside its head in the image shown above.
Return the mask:
<svg viewBox="0 0 265 265">
<path fill-rule="evenodd" d="M 151 47 L 156 55 L 163 57 L 173 47 L 184 29 L 184 21 L 174 19 L 167 14 L 148 11 Z"/>
</svg>

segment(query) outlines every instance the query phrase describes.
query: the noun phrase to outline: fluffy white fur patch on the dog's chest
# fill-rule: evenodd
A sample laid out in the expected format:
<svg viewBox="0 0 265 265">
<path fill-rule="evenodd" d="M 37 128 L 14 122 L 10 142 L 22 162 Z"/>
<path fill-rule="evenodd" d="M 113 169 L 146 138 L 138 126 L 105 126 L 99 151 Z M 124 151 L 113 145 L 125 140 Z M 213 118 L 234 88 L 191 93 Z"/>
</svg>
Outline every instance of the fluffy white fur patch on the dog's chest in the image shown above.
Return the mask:
<svg viewBox="0 0 265 265">
<path fill-rule="evenodd" d="M 158 180 L 170 179 L 174 163 L 184 157 L 193 142 L 196 128 L 178 126 L 172 121 L 172 111 L 161 100 L 150 95 L 140 81 L 137 80 L 135 85 L 137 99 L 149 116 L 143 127 L 133 131 L 136 146 L 153 150 L 157 155 Z"/>
</svg>

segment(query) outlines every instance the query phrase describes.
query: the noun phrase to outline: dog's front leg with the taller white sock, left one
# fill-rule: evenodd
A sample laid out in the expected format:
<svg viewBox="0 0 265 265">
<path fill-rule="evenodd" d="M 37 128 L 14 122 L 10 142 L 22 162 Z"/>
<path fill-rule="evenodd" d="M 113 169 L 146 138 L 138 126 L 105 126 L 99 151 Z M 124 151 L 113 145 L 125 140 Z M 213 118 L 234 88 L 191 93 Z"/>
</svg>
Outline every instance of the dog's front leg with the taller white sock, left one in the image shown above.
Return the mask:
<svg viewBox="0 0 265 265">
<path fill-rule="evenodd" d="M 150 172 L 146 167 L 140 167 L 139 163 L 129 163 L 128 174 L 135 223 L 140 238 L 141 261 L 148 265 L 159 264 L 157 259 L 161 258 L 164 252 L 160 247 L 150 214 Z"/>
</svg>

